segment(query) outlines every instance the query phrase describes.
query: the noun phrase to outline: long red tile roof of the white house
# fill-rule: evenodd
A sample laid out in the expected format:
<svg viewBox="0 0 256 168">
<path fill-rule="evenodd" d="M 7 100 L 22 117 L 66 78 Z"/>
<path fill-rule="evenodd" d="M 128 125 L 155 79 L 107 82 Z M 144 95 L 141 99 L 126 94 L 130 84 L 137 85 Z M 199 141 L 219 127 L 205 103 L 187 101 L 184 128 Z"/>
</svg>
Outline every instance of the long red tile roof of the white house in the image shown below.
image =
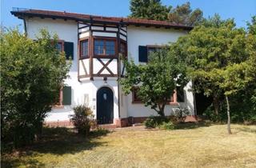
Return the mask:
<svg viewBox="0 0 256 168">
<path fill-rule="evenodd" d="M 90 14 L 75 14 L 66 11 L 51 11 L 51 10 L 27 10 L 27 9 L 15 9 L 10 12 L 18 18 L 23 18 L 25 16 L 29 17 L 41 17 L 41 18 L 63 18 L 82 22 L 106 22 L 107 24 L 118 24 L 122 22 L 125 25 L 135 25 L 135 26 L 156 26 L 156 27 L 166 27 L 175 29 L 192 30 L 191 26 L 184 26 L 181 24 L 174 24 L 166 21 L 156 21 L 148 19 L 139 18 L 118 18 L 118 17 L 103 17 Z"/>
</svg>

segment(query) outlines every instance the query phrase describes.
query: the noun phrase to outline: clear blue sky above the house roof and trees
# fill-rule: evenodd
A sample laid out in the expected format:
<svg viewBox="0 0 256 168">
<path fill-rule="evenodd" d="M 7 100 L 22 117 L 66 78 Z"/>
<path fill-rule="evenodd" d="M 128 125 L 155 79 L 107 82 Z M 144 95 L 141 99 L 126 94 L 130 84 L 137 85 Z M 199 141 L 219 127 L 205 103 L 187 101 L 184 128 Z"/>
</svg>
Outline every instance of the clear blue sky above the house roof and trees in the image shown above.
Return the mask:
<svg viewBox="0 0 256 168">
<path fill-rule="evenodd" d="M 3 26 L 22 28 L 22 20 L 10 14 L 12 7 L 66 10 L 82 14 L 126 17 L 130 14 L 129 0 L 1 0 L 1 23 Z M 238 27 L 256 14 L 256 0 L 162 0 L 164 5 L 177 6 L 190 2 L 192 9 L 199 8 L 204 17 L 218 13 L 222 18 L 234 18 Z"/>
</svg>

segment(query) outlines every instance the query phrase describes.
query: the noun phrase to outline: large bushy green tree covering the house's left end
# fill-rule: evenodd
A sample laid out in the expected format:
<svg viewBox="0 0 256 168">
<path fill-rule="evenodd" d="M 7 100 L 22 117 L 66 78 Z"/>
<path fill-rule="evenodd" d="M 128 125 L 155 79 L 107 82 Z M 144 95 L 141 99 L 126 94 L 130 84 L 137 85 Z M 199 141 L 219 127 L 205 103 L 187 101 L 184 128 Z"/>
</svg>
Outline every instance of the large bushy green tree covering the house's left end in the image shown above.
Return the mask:
<svg viewBox="0 0 256 168">
<path fill-rule="evenodd" d="M 1 32 L 2 140 L 22 146 L 34 140 L 58 98 L 70 63 L 56 49 L 58 37 L 42 30 L 37 40 L 18 30 Z"/>
</svg>

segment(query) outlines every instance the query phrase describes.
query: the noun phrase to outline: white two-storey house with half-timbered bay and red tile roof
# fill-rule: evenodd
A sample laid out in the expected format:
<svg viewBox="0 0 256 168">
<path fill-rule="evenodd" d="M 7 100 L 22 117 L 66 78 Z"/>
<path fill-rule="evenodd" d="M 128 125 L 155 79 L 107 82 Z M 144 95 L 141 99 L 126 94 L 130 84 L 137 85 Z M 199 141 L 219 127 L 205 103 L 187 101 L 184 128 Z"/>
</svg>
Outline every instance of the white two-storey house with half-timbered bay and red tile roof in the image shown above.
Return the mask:
<svg viewBox="0 0 256 168">
<path fill-rule="evenodd" d="M 124 67 L 119 55 L 145 63 L 147 55 L 159 46 L 175 42 L 192 27 L 170 22 L 134 18 L 102 17 L 66 11 L 14 9 L 23 19 L 26 34 L 34 39 L 42 28 L 58 34 L 58 49 L 72 58 L 70 78 L 60 92 L 58 106 L 53 106 L 46 123 L 69 125 L 72 108 L 86 104 L 94 111 L 99 124 L 127 126 L 156 114 L 139 100 L 136 90 L 122 93 L 118 78 Z M 192 82 L 170 95 L 166 115 L 178 106 L 187 107 L 195 116 Z"/>
</svg>

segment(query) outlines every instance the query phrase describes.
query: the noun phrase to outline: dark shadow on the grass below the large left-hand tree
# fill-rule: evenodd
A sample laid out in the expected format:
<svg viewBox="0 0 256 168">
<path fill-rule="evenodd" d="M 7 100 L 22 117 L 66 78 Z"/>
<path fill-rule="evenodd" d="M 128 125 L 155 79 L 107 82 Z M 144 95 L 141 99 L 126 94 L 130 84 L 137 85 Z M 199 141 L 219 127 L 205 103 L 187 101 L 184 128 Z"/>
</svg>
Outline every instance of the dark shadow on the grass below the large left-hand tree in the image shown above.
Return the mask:
<svg viewBox="0 0 256 168">
<path fill-rule="evenodd" d="M 83 150 L 92 150 L 96 146 L 106 146 L 96 139 L 109 134 L 109 130 L 93 130 L 89 136 L 77 134 L 74 129 L 45 127 L 38 142 L 15 151 L 2 154 L 1 167 L 42 167 L 44 164 L 34 159 L 34 154 L 75 154 Z"/>
</svg>

